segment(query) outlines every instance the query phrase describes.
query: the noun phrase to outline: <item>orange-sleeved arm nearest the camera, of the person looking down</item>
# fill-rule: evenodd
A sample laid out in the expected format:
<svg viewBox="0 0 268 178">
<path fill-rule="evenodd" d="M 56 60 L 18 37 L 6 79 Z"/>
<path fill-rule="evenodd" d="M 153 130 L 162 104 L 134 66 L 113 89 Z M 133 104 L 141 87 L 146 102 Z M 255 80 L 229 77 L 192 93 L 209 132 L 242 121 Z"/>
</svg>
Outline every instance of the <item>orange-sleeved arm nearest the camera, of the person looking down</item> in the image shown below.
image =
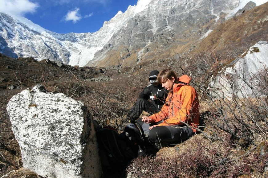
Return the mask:
<svg viewBox="0 0 268 178">
<path fill-rule="evenodd" d="M 176 112 L 173 114 L 173 116 L 170 116 L 168 119 L 166 119 L 163 123 L 160 123 L 158 126 L 163 125 L 182 125 L 184 123 L 187 123 L 190 116 L 190 110 L 193 104 L 193 101 L 195 99 L 195 91 L 192 87 L 183 87 L 183 91 L 181 92 L 181 102 L 177 103 L 177 98 L 173 98 L 174 105 L 173 110 Z"/>
</svg>

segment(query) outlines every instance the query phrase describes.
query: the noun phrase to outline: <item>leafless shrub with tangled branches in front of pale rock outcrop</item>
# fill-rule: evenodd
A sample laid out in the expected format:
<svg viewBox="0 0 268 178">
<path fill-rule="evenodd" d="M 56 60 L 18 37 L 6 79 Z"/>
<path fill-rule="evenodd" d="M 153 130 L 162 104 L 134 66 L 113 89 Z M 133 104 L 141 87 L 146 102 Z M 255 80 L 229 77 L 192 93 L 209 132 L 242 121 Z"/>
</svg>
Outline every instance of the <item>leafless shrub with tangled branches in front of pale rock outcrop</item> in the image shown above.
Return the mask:
<svg viewBox="0 0 268 178">
<path fill-rule="evenodd" d="M 238 139 L 238 142 L 242 141 L 243 144 L 240 144 L 244 147 L 258 137 L 267 139 L 268 106 L 267 95 L 263 95 L 267 90 L 267 86 L 263 85 L 267 78 L 265 70 L 258 75 L 229 73 L 224 78 L 225 84 L 220 83 L 221 91 L 213 91 L 218 96 L 217 102 L 214 100 L 212 103 L 212 110 L 218 115 L 214 121 L 216 126 Z M 260 89 L 257 88 L 263 92 L 258 92 Z M 225 99 L 226 91 L 229 99 Z"/>
</svg>

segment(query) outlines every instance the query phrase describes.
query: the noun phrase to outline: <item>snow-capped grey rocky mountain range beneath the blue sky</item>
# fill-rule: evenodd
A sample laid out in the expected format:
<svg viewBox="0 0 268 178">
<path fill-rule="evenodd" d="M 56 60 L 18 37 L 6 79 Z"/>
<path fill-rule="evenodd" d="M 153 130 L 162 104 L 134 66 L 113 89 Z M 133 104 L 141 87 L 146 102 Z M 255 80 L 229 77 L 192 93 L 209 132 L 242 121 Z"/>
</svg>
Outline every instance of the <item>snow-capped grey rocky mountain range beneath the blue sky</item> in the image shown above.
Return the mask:
<svg viewBox="0 0 268 178">
<path fill-rule="evenodd" d="M 0 13 L 0 52 L 79 66 L 134 66 L 191 48 L 229 17 L 268 0 L 139 0 L 95 33 L 58 34 Z"/>
</svg>

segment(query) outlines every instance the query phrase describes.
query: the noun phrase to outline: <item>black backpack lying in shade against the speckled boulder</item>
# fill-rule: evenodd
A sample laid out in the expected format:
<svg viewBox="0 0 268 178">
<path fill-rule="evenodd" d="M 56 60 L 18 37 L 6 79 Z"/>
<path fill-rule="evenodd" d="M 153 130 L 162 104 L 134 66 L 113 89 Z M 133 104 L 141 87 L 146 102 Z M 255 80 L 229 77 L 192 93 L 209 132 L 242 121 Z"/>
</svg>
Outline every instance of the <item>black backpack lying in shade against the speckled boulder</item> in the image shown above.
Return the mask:
<svg viewBox="0 0 268 178">
<path fill-rule="evenodd" d="M 96 137 L 103 169 L 124 169 L 134 158 L 145 156 L 144 141 L 133 124 L 121 134 L 106 126 L 96 131 Z"/>
</svg>

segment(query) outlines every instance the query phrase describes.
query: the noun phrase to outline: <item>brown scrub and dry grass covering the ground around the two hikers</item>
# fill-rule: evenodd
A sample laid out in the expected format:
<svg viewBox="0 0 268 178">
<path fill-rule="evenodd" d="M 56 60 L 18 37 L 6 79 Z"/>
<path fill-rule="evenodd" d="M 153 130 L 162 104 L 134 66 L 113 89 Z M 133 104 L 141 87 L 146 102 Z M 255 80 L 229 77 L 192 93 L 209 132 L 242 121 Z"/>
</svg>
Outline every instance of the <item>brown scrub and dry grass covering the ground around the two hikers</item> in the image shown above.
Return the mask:
<svg viewBox="0 0 268 178">
<path fill-rule="evenodd" d="M 125 177 L 126 174 L 133 177 L 265 177 L 268 162 L 266 66 L 252 76 L 251 83 L 252 89 L 262 91 L 262 95 L 256 94 L 253 98 L 237 98 L 234 95 L 231 100 L 226 100 L 211 98 L 206 90 L 209 78 L 232 59 L 233 56 L 217 52 L 199 53 L 163 63 L 161 67 L 158 66 L 159 63 L 151 63 L 146 71 L 145 67 L 134 72 L 122 68 L 120 70 L 124 72 L 117 74 L 114 70 L 109 70 L 102 75 L 112 76 L 113 80 L 110 81 L 87 83 L 81 77 L 83 74 L 77 76 L 71 72 L 60 86 L 50 85 L 49 79 L 41 83 L 47 84 L 46 87 L 51 92 L 63 92 L 83 101 L 101 126 L 112 125 L 118 128 L 139 92 L 148 84 L 147 75 L 150 70 L 171 67 L 178 75 L 191 75 L 191 84 L 197 89 L 201 100 L 202 124 L 198 134 L 181 144 L 164 147 L 154 156 L 133 160 L 125 173 L 104 172 L 104 177 Z M 24 81 L 19 82 L 25 85 Z M 7 177 L 36 177 L 32 172 L 22 169 L 19 146 L 6 113 L 6 104 L 14 93 L 11 94 L 10 90 L 2 93 L 1 175 L 16 170 Z"/>
</svg>

